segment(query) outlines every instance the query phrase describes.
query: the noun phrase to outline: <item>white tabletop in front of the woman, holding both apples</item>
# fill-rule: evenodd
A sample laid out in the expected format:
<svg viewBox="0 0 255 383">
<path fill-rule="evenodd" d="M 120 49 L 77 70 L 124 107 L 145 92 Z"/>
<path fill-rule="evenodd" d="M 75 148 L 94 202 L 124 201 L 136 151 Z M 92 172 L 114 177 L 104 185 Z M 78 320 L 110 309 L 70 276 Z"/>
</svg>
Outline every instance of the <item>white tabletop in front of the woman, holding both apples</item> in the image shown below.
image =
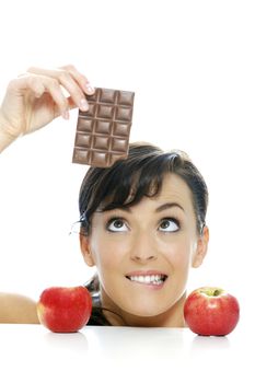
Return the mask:
<svg viewBox="0 0 255 383">
<path fill-rule="evenodd" d="M 54 334 L 40 325 L 1 324 L 0 381 L 221 383 L 245 374 L 254 382 L 253 335 L 242 327 L 200 337 L 188 328 L 107 326 Z"/>
</svg>

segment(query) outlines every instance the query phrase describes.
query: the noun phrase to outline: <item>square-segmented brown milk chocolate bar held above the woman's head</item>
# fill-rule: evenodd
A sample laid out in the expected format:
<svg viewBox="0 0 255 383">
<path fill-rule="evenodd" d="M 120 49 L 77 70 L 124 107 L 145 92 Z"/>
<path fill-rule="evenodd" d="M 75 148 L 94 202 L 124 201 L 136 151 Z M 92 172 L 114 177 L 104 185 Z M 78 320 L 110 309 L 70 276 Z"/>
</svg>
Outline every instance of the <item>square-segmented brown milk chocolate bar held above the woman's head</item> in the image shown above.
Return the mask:
<svg viewBox="0 0 255 383">
<path fill-rule="evenodd" d="M 134 97 L 134 92 L 103 88 L 86 95 L 89 111 L 79 111 L 72 162 L 109 167 L 127 158 Z"/>
</svg>

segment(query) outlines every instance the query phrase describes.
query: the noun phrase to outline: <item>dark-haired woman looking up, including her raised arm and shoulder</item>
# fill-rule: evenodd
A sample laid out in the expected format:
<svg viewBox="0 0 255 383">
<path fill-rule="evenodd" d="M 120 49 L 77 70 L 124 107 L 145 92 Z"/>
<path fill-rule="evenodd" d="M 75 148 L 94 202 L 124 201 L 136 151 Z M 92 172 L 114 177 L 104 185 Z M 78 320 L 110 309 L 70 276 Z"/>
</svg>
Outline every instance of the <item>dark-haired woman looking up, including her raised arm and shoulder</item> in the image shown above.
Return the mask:
<svg viewBox="0 0 255 383">
<path fill-rule="evenodd" d="M 61 86 L 70 94 L 66 98 Z M 88 109 L 93 93 L 73 66 L 31 68 L 11 81 L 0 111 L 0 147 L 38 129 L 70 107 Z M 208 190 L 188 156 L 132 143 L 127 160 L 91 167 L 81 185 L 80 243 L 96 275 L 91 325 L 183 327 L 190 267 L 207 252 Z M 0 322 L 38 323 L 35 302 L 0 295 Z"/>
</svg>

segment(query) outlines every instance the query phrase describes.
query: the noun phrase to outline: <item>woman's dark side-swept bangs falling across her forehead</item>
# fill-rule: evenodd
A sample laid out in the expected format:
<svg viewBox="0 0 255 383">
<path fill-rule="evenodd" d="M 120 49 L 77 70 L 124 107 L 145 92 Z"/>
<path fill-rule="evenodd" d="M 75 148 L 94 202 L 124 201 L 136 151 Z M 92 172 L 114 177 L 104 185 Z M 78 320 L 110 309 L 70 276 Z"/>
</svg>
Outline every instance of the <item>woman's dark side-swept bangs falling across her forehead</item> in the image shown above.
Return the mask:
<svg viewBox="0 0 255 383">
<path fill-rule="evenodd" d="M 128 159 L 108 169 L 90 167 L 80 189 L 80 222 L 89 233 L 94 212 L 131 207 L 143 197 L 155 197 L 162 188 L 164 175 L 183 166 L 179 151 L 163 152 L 160 148 L 130 144 Z"/>
</svg>

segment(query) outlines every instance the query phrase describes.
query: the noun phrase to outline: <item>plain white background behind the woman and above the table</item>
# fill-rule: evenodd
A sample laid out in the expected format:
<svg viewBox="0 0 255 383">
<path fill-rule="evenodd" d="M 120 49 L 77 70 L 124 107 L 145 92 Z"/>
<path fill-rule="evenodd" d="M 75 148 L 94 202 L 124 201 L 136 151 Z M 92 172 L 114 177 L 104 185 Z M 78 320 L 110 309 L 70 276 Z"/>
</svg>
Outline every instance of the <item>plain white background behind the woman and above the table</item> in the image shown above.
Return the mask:
<svg viewBox="0 0 255 383">
<path fill-rule="evenodd" d="M 95 86 L 135 91 L 131 141 L 186 151 L 204 174 L 210 247 L 188 291 L 212 285 L 253 321 L 254 1 L 11 1 L 1 5 L 0 93 L 31 66 L 73 63 Z M 83 283 L 69 121 L 15 141 L 0 159 L 0 291 L 37 299 Z"/>
</svg>

